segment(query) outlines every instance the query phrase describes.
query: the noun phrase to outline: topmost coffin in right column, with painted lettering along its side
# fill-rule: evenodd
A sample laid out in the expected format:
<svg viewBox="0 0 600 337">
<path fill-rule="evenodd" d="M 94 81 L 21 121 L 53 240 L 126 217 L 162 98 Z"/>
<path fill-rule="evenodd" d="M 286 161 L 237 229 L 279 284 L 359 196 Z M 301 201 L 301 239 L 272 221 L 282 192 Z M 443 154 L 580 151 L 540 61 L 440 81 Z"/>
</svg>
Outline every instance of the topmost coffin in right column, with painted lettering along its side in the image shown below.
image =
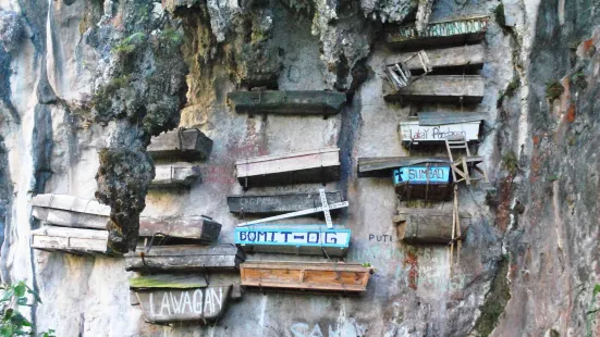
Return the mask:
<svg viewBox="0 0 600 337">
<path fill-rule="evenodd" d="M 385 42 L 391 48 L 418 49 L 444 45 L 472 45 L 483 39 L 488 30 L 489 16 L 464 17 L 430 22 L 425 32 L 418 34 L 415 25 L 392 27 Z"/>
</svg>

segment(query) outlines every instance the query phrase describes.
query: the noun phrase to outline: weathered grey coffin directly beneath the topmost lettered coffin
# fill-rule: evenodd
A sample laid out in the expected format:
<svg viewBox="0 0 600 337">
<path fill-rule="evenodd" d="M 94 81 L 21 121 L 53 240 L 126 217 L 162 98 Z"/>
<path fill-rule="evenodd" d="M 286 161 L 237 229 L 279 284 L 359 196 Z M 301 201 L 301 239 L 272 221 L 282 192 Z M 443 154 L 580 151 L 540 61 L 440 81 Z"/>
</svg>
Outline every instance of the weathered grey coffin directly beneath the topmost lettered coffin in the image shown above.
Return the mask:
<svg viewBox="0 0 600 337">
<path fill-rule="evenodd" d="M 427 58 L 429 59 L 429 65 L 433 68 L 433 74 L 436 73 L 436 68 L 440 67 L 463 68 L 468 65 L 469 71 L 480 70 L 483 67 L 483 63 L 486 62 L 486 47 L 482 43 L 431 49 L 426 52 Z M 392 65 L 409 59 L 405 64 L 411 71 L 423 71 L 423 65 L 419 58 L 412 58 L 415 52 L 402 52 L 394 54 L 385 59 L 385 64 Z"/>
</svg>

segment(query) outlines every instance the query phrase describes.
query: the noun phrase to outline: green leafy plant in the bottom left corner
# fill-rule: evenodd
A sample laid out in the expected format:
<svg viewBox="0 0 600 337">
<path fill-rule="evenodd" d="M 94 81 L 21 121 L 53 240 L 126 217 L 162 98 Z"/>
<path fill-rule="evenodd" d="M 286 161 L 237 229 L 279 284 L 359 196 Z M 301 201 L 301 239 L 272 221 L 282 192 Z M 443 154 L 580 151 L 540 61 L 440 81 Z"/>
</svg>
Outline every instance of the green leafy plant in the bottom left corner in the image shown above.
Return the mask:
<svg viewBox="0 0 600 337">
<path fill-rule="evenodd" d="M 20 307 L 41 304 L 39 296 L 23 280 L 0 285 L 0 336 L 34 336 L 35 326 L 20 312 Z M 39 336 L 54 337 L 54 330 L 44 332 Z"/>
</svg>

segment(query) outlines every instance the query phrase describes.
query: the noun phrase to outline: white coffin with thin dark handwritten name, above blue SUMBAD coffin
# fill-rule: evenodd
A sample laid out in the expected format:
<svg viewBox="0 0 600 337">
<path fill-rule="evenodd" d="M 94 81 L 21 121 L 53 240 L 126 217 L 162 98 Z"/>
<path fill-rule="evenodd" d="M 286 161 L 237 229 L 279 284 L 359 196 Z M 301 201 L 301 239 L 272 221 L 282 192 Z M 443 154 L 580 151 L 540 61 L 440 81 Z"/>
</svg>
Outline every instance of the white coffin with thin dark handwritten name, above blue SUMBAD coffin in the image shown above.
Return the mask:
<svg viewBox="0 0 600 337">
<path fill-rule="evenodd" d="M 462 136 L 465 141 L 479 140 L 479 126 L 483 121 L 481 114 L 472 114 L 469 118 L 449 116 L 437 120 L 421 120 L 409 117 L 406 122 L 400 122 L 400 137 L 404 142 L 412 145 L 440 143 L 450 136 Z"/>
</svg>

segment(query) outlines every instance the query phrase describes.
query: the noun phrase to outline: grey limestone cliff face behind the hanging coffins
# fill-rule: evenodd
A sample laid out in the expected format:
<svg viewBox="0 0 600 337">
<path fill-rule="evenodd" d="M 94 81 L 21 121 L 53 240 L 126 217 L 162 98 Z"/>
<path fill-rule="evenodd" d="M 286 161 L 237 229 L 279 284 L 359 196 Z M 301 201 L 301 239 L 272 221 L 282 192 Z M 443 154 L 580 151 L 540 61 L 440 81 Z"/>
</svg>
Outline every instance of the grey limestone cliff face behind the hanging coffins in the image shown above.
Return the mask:
<svg viewBox="0 0 600 337">
<path fill-rule="evenodd" d="M 598 307 L 592 288 L 600 283 L 598 7 L 584 0 L 0 0 L 2 282 L 34 286 L 44 304 L 29 314 L 58 336 L 596 336 L 597 316 L 587 312 Z M 358 179 L 356 161 L 411 154 L 397 123 L 413 111 L 381 95 L 382 65 L 393 54 L 385 29 L 482 14 L 491 18 L 477 150 L 491 185 L 460 189 L 461 210 L 474 223 L 450 277 L 446 247 L 396 239 L 391 182 Z M 226 104 L 228 92 L 257 86 L 343 91 L 348 104 L 327 120 L 249 118 Z M 189 189 L 148 190 L 154 163 L 145 148 L 150 136 L 176 126 L 197 127 L 213 140 L 210 158 L 198 163 L 203 178 Z M 341 149 L 342 177 L 327 188 L 351 204 L 336 219 L 353 230 L 346 260 L 376 269 L 360 297 L 248 291 L 215 325 L 150 325 L 130 305 L 134 273 L 124 271 L 123 259 L 29 247 L 39 226 L 29 200 L 42 192 L 110 204 L 112 241 L 121 250 L 134 247 L 140 212 L 209 215 L 223 225 L 219 242 L 232 242 L 240 219 L 225 197 L 243 194 L 236 160 L 331 146 Z"/>
</svg>

